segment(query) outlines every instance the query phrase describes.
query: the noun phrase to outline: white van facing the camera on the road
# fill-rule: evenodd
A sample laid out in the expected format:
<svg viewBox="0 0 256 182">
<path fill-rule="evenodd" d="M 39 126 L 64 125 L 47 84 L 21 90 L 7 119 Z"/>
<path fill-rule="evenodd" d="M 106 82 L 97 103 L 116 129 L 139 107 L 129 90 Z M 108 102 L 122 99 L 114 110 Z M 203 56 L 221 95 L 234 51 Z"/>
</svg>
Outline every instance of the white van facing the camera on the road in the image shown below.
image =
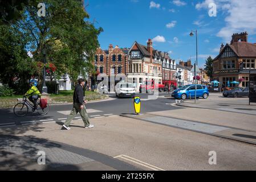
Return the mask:
<svg viewBox="0 0 256 182">
<path fill-rule="evenodd" d="M 135 88 L 132 83 L 118 82 L 116 84 L 116 97 L 135 97 Z"/>
</svg>

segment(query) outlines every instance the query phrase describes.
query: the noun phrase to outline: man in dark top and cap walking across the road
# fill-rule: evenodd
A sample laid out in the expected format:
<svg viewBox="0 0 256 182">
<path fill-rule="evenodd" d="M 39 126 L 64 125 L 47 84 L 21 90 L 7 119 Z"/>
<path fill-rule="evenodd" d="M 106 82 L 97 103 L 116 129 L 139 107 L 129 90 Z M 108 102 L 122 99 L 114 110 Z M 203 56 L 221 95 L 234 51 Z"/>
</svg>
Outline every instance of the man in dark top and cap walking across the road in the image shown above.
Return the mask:
<svg viewBox="0 0 256 182">
<path fill-rule="evenodd" d="M 84 79 L 80 78 L 78 80 L 78 85 L 76 85 L 75 91 L 74 91 L 74 96 L 73 96 L 73 109 L 71 110 L 70 115 L 67 118 L 67 121 L 64 123 L 63 127 L 64 129 L 70 130 L 70 123 L 72 119 L 75 117 L 78 112 L 80 113 L 83 122 L 84 122 L 84 127 L 86 129 L 91 129 L 94 127 L 94 125 L 90 124 L 88 114 L 86 112 L 86 107 L 84 104 L 86 104 L 86 101 L 84 101 L 84 94 L 83 94 L 83 88 L 84 88 Z"/>
</svg>

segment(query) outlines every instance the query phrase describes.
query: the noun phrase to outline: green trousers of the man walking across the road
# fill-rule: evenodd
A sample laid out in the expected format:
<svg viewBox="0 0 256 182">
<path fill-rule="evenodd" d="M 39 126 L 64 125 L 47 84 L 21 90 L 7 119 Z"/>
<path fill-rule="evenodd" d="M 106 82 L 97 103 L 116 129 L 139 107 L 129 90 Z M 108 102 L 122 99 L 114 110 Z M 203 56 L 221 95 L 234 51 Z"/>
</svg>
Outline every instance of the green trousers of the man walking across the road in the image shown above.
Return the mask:
<svg viewBox="0 0 256 182">
<path fill-rule="evenodd" d="M 65 126 L 70 126 L 70 123 L 72 121 L 72 119 L 75 117 L 76 114 L 78 114 L 78 112 L 80 113 L 83 122 L 84 122 L 84 126 L 89 126 L 90 125 L 90 121 L 89 121 L 89 117 L 88 114 L 86 112 L 86 107 L 84 106 L 84 109 L 80 109 L 80 104 L 73 104 L 73 109 L 71 110 L 70 115 L 68 115 L 68 118 L 66 120 L 66 122 L 64 123 Z"/>
</svg>

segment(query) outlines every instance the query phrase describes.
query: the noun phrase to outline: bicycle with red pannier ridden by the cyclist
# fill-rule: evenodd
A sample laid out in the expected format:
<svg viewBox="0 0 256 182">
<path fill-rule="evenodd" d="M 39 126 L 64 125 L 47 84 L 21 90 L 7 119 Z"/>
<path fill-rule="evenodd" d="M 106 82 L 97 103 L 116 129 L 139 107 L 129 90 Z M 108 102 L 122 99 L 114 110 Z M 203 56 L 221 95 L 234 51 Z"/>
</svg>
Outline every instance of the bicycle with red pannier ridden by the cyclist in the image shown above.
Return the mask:
<svg viewBox="0 0 256 182">
<path fill-rule="evenodd" d="M 23 101 L 14 106 L 14 114 L 17 117 L 25 117 L 29 113 L 29 107 L 32 109 L 32 112 L 34 112 L 34 105 L 30 104 L 26 97 L 23 97 Z M 36 107 L 37 112 L 40 115 L 46 115 L 50 110 L 50 106 L 48 104 L 44 109 L 42 109 L 39 101 L 36 101 Z"/>
</svg>

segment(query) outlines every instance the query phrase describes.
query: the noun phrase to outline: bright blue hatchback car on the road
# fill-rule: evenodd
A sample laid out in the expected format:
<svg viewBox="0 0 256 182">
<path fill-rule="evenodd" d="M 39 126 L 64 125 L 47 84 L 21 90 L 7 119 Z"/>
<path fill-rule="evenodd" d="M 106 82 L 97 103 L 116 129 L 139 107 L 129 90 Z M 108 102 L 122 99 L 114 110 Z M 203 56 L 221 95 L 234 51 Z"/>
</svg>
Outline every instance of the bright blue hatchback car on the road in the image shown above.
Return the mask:
<svg viewBox="0 0 256 182">
<path fill-rule="evenodd" d="M 187 98 L 194 98 L 195 96 L 202 97 L 204 99 L 208 98 L 209 91 L 207 86 L 197 85 L 197 92 L 196 92 L 196 85 L 185 85 L 185 86 L 182 86 L 180 89 L 174 90 L 172 93 L 172 97 L 174 97 L 175 99 L 182 99 L 182 100 L 186 100 Z"/>
</svg>

